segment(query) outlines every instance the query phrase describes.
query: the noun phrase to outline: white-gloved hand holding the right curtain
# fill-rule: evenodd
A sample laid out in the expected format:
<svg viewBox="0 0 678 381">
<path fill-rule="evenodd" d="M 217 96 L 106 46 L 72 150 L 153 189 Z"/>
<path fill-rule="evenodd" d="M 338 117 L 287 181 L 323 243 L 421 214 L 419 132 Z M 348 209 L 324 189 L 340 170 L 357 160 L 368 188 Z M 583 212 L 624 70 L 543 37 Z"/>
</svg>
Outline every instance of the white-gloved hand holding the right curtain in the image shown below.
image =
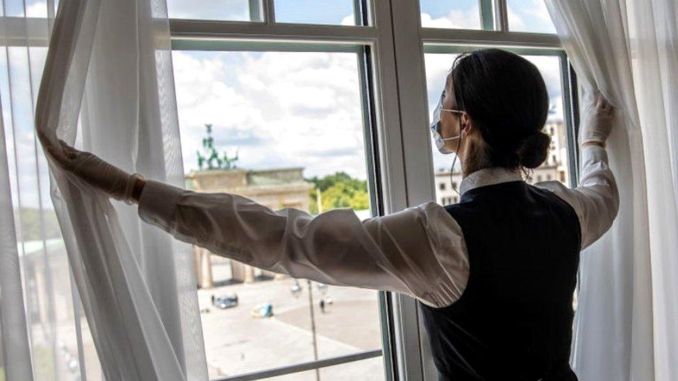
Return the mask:
<svg viewBox="0 0 678 381">
<path fill-rule="evenodd" d="M 579 124 L 579 145 L 595 142 L 604 145 L 612 130 L 614 108 L 597 92 L 586 105 L 584 116 Z"/>
</svg>

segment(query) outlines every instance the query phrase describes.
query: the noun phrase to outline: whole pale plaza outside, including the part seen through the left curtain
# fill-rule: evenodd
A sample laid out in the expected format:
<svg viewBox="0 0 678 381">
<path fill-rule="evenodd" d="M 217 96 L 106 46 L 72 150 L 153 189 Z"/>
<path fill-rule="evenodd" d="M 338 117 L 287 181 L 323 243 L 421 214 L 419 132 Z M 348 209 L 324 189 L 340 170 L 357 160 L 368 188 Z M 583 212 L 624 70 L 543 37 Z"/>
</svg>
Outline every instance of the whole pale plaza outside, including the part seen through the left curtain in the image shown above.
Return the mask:
<svg viewBox="0 0 678 381">
<path fill-rule="evenodd" d="M 65 253 L 57 253 L 51 262 L 53 300 L 61 318 L 55 325 L 31 322 L 31 342 L 35 352 L 35 379 L 81 380 L 73 319 L 72 296 Z M 222 258 L 214 260 L 217 287 L 197 290 L 210 378 L 261 371 L 279 366 L 313 361 L 313 335 L 308 300 L 308 283 L 299 280 L 301 289 L 292 293 L 295 280 L 258 280 L 254 283 L 228 284 L 229 266 Z M 377 291 L 349 287 L 317 287 L 313 283 L 317 351 L 320 359 L 381 348 Z M 220 310 L 211 305 L 211 296 L 238 294 L 238 306 Z M 320 298 L 331 298 L 325 313 Z M 256 319 L 253 308 L 272 303 L 272 317 Z M 103 380 L 99 359 L 90 335 L 87 319 L 81 315 L 83 362 L 88 381 Z M 47 339 L 54 332 L 54 341 Z M 51 348 L 55 348 L 52 350 Z M 381 357 L 331 366 L 318 371 L 320 380 L 383 380 Z M 315 381 L 315 371 L 294 373 L 269 380 Z"/>
</svg>

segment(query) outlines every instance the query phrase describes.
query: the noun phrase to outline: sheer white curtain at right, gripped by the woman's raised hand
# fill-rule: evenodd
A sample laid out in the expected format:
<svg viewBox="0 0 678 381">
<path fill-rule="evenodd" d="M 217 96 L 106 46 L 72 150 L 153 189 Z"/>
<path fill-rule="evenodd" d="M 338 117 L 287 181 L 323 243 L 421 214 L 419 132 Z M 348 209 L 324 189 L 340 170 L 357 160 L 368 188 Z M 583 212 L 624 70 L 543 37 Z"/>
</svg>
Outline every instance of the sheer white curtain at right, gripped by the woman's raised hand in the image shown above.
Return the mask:
<svg viewBox="0 0 678 381">
<path fill-rule="evenodd" d="M 584 96 L 618 108 L 613 228 L 582 253 L 572 361 L 581 380 L 678 377 L 678 5 L 546 0 Z"/>
</svg>

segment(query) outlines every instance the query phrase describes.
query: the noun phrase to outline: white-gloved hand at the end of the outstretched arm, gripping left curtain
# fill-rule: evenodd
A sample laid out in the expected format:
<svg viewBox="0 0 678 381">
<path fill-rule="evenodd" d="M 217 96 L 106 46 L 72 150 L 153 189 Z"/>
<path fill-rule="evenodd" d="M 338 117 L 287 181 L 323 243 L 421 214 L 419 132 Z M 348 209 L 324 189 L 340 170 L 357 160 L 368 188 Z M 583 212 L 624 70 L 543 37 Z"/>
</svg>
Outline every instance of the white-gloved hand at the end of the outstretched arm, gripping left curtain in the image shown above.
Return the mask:
<svg viewBox="0 0 678 381">
<path fill-rule="evenodd" d="M 78 151 L 63 140 L 59 140 L 59 143 L 61 151 L 51 148 L 49 152 L 63 169 L 74 173 L 85 183 L 101 189 L 117 200 L 126 203 L 133 202 L 132 190 L 135 181 L 141 178 L 140 175 L 131 175 L 115 167 L 115 165 L 101 160 L 93 153 Z"/>
</svg>

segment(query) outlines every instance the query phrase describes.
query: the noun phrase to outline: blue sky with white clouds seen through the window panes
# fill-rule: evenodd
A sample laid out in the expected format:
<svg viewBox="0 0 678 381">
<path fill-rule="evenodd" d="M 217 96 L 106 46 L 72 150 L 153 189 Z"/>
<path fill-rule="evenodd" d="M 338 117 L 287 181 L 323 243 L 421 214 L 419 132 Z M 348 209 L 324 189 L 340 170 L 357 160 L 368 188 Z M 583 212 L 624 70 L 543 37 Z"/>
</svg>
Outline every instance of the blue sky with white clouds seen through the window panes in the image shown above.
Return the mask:
<svg viewBox="0 0 678 381">
<path fill-rule="evenodd" d="M 188 6 L 188 0 L 178 1 L 170 2 L 170 14 L 181 8 L 186 12 L 181 17 L 188 17 L 195 7 Z M 213 12 L 226 15 L 226 4 L 235 7 L 235 3 L 238 1 L 226 1 Z M 238 17 L 246 19 L 243 4 L 247 5 L 247 1 L 240 3 L 244 13 Z M 310 3 L 311 0 L 279 1 L 276 12 L 281 13 L 276 14 L 276 19 L 353 22 L 352 0 L 328 1 L 326 8 L 311 7 Z M 534 19 L 538 17 L 550 22 L 547 13 L 538 13 L 543 6 L 539 0 L 511 1 L 510 5 L 520 7 L 520 14 L 511 10 L 512 26 L 536 25 Z M 421 0 L 420 7 L 424 26 L 480 27 L 477 1 Z M 525 17 L 532 22 L 524 22 Z M 175 51 L 173 57 L 185 171 L 197 167 L 196 151 L 205 135 L 204 124 L 213 124 L 217 147 L 231 155 L 237 150 L 242 168 L 304 167 L 305 176 L 347 171 L 354 177 L 366 178 L 354 54 Z M 557 58 L 529 59 L 541 69 L 552 103 L 562 115 Z M 429 112 L 435 107 L 453 60 L 454 56 L 447 54 L 425 57 Z M 429 133 L 427 127 L 422 126 L 422 133 Z M 452 156 L 437 151 L 432 157 L 436 169 L 449 167 L 452 162 Z"/>
</svg>

